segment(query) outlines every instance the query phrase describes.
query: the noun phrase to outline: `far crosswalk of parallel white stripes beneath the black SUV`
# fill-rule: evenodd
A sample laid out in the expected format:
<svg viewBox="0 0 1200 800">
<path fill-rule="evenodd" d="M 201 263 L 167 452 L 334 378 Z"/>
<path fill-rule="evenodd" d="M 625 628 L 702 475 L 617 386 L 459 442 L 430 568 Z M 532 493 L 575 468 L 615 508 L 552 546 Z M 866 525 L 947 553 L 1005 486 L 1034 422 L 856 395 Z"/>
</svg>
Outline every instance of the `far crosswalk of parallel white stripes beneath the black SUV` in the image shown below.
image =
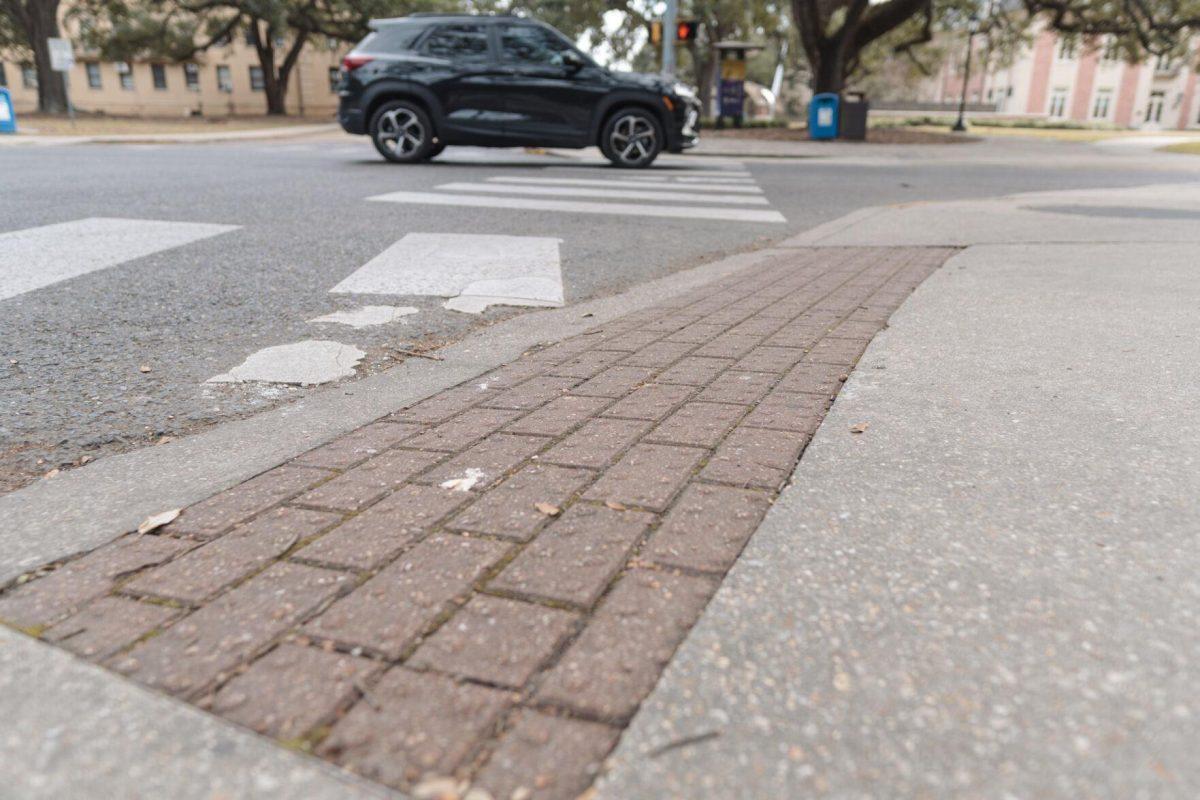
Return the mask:
<svg viewBox="0 0 1200 800">
<path fill-rule="evenodd" d="M 402 190 L 367 199 L 376 203 L 628 217 L 768 224 L 787 222 L 782 213 L 770 207 L 770 200 L 744 170 L 688 170 L 685 175 L 664 172 L 619 178 L 568 178 L 551 170 L 545 173 L 451 181 L 432 191 Z"/>
</svg>

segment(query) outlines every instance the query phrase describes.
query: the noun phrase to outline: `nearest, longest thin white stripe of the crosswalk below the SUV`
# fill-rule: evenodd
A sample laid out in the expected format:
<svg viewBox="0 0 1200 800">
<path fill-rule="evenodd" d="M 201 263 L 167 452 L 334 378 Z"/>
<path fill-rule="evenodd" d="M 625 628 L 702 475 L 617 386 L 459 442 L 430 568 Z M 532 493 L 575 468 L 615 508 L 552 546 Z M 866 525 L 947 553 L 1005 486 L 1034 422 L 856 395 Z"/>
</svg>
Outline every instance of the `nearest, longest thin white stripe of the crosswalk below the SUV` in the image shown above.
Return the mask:
<svg viewBox="0 0 1200 800">
<path fill-rule="evenodd" d="M 418 205 L 457 205 L 482 209 L 528 209 L 570 213 L 614 213 L 634 217 L 674 217 L 680 219 L 730 219 L 733 222 L 787 222 L 778 211 L 757 209 L 708 209 L 698 205 L 644 205 L 636 203 L 584 203 L 582 200 L 540 200 L 523 197 L 487 197 L 484 194 L 437 194 L 436 192 L 391 192 L 368 197 L 382 203 Z"/>
</svg>

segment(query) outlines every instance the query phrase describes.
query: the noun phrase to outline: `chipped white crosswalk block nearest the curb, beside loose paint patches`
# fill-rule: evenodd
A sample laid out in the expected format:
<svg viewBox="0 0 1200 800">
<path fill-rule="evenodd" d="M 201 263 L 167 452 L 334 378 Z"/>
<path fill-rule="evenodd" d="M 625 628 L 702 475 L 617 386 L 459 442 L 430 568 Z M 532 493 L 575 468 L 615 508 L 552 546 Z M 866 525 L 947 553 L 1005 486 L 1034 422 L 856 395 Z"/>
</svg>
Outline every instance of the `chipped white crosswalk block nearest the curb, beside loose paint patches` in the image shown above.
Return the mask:
<svg viewBox="0 0 1200 800">
<path fill-rule="evenodd" d="M 484 199 L 505 203 L 502 198 Z M 330 291 L 451 297 L 446 308 L 468 313 L 479 313 L 488 305 L 562 306 L 558 242 L 544 236 L 408 234 Z"/>
</svg>

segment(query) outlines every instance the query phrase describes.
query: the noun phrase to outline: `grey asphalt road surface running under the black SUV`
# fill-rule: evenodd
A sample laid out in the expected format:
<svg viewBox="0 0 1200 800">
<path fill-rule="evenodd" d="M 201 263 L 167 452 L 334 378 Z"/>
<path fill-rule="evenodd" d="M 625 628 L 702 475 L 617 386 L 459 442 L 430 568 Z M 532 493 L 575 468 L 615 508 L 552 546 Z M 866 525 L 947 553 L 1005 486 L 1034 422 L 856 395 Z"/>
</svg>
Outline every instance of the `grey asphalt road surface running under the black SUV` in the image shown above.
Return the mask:
<svg viewBox="0 0 1200 800">
<path fill-rule="evenodd" d="M 570 303 L 763 246 L 866 205 L 1193 179 L 1171 172 L 1156 155 L 1016 140 L 864 146 L 862 156 L 835 158 L 672 157 L 661 160 L 650 178 L 686 192 L 689 182 L 701 184 L 714 172 L 727 172 L 728 186 L 762 190 L 766 204 L 738 209 L 778 212 L 784 221 L 647 216 L 638 206 L 671 203 L 589 197 L 590 190 L 624 190 L 578 181 L 641 180 L 605 167 L 593 152 L 451 149 L 431 164 L 396 167 L 382 162 L 366 140 L 341 136 L 0 149 L 7 190 L 0 193 L 0 235 L 94 217 L 238 227 L 12 296 L 0 294 L 0 491 L 53 468 L 191 433 L 311 391 L 205 383 L 263 348 L 336 339 L 366 353 L 359 367 L 365 374 L 402 360 L 397 348 L 436 345 L 520 313 L 492 307 L 474 315 L 448 311 L 443 299 L 431 296 L 330 293 L 407 234 L 558 239 Z M 496 180 L 553 182 L 576 191 L 554 201 L 605 203 L 611 212 L 509 207 L 503 187 L 485 196 L 490 206 L 420 199 L 454 197 L 438 188 L 446 184 Z M 719 190 L 720 184 L 713 192 Z M 403 203 L 366 200 L 395 192 L 425 194 Z M 544 203 L 530 194 L 511 197 Z M 716 215 L 733 207 L 716 200 L 706 205 Z M 372 303 L 414 306 L 419 313 L 364 329 L 310 321 Z"/>
</svg>

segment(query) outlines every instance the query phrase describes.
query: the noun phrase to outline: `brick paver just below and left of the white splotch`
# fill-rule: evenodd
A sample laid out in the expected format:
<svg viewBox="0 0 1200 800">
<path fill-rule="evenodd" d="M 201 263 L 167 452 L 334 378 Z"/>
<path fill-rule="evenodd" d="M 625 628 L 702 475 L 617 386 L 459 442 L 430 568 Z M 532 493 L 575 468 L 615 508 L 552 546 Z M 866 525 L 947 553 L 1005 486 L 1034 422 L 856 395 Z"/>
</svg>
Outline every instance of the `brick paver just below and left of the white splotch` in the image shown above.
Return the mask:
<svg viewBox="0 0 1200 800">
<path fill-rule="evenodd" d="M 466 492 L 438 486 L 402 486 L 395 494 L 302 547 L 294 558 L 326 566 L 377 570 L 469 500 Z"/>
</svg>

